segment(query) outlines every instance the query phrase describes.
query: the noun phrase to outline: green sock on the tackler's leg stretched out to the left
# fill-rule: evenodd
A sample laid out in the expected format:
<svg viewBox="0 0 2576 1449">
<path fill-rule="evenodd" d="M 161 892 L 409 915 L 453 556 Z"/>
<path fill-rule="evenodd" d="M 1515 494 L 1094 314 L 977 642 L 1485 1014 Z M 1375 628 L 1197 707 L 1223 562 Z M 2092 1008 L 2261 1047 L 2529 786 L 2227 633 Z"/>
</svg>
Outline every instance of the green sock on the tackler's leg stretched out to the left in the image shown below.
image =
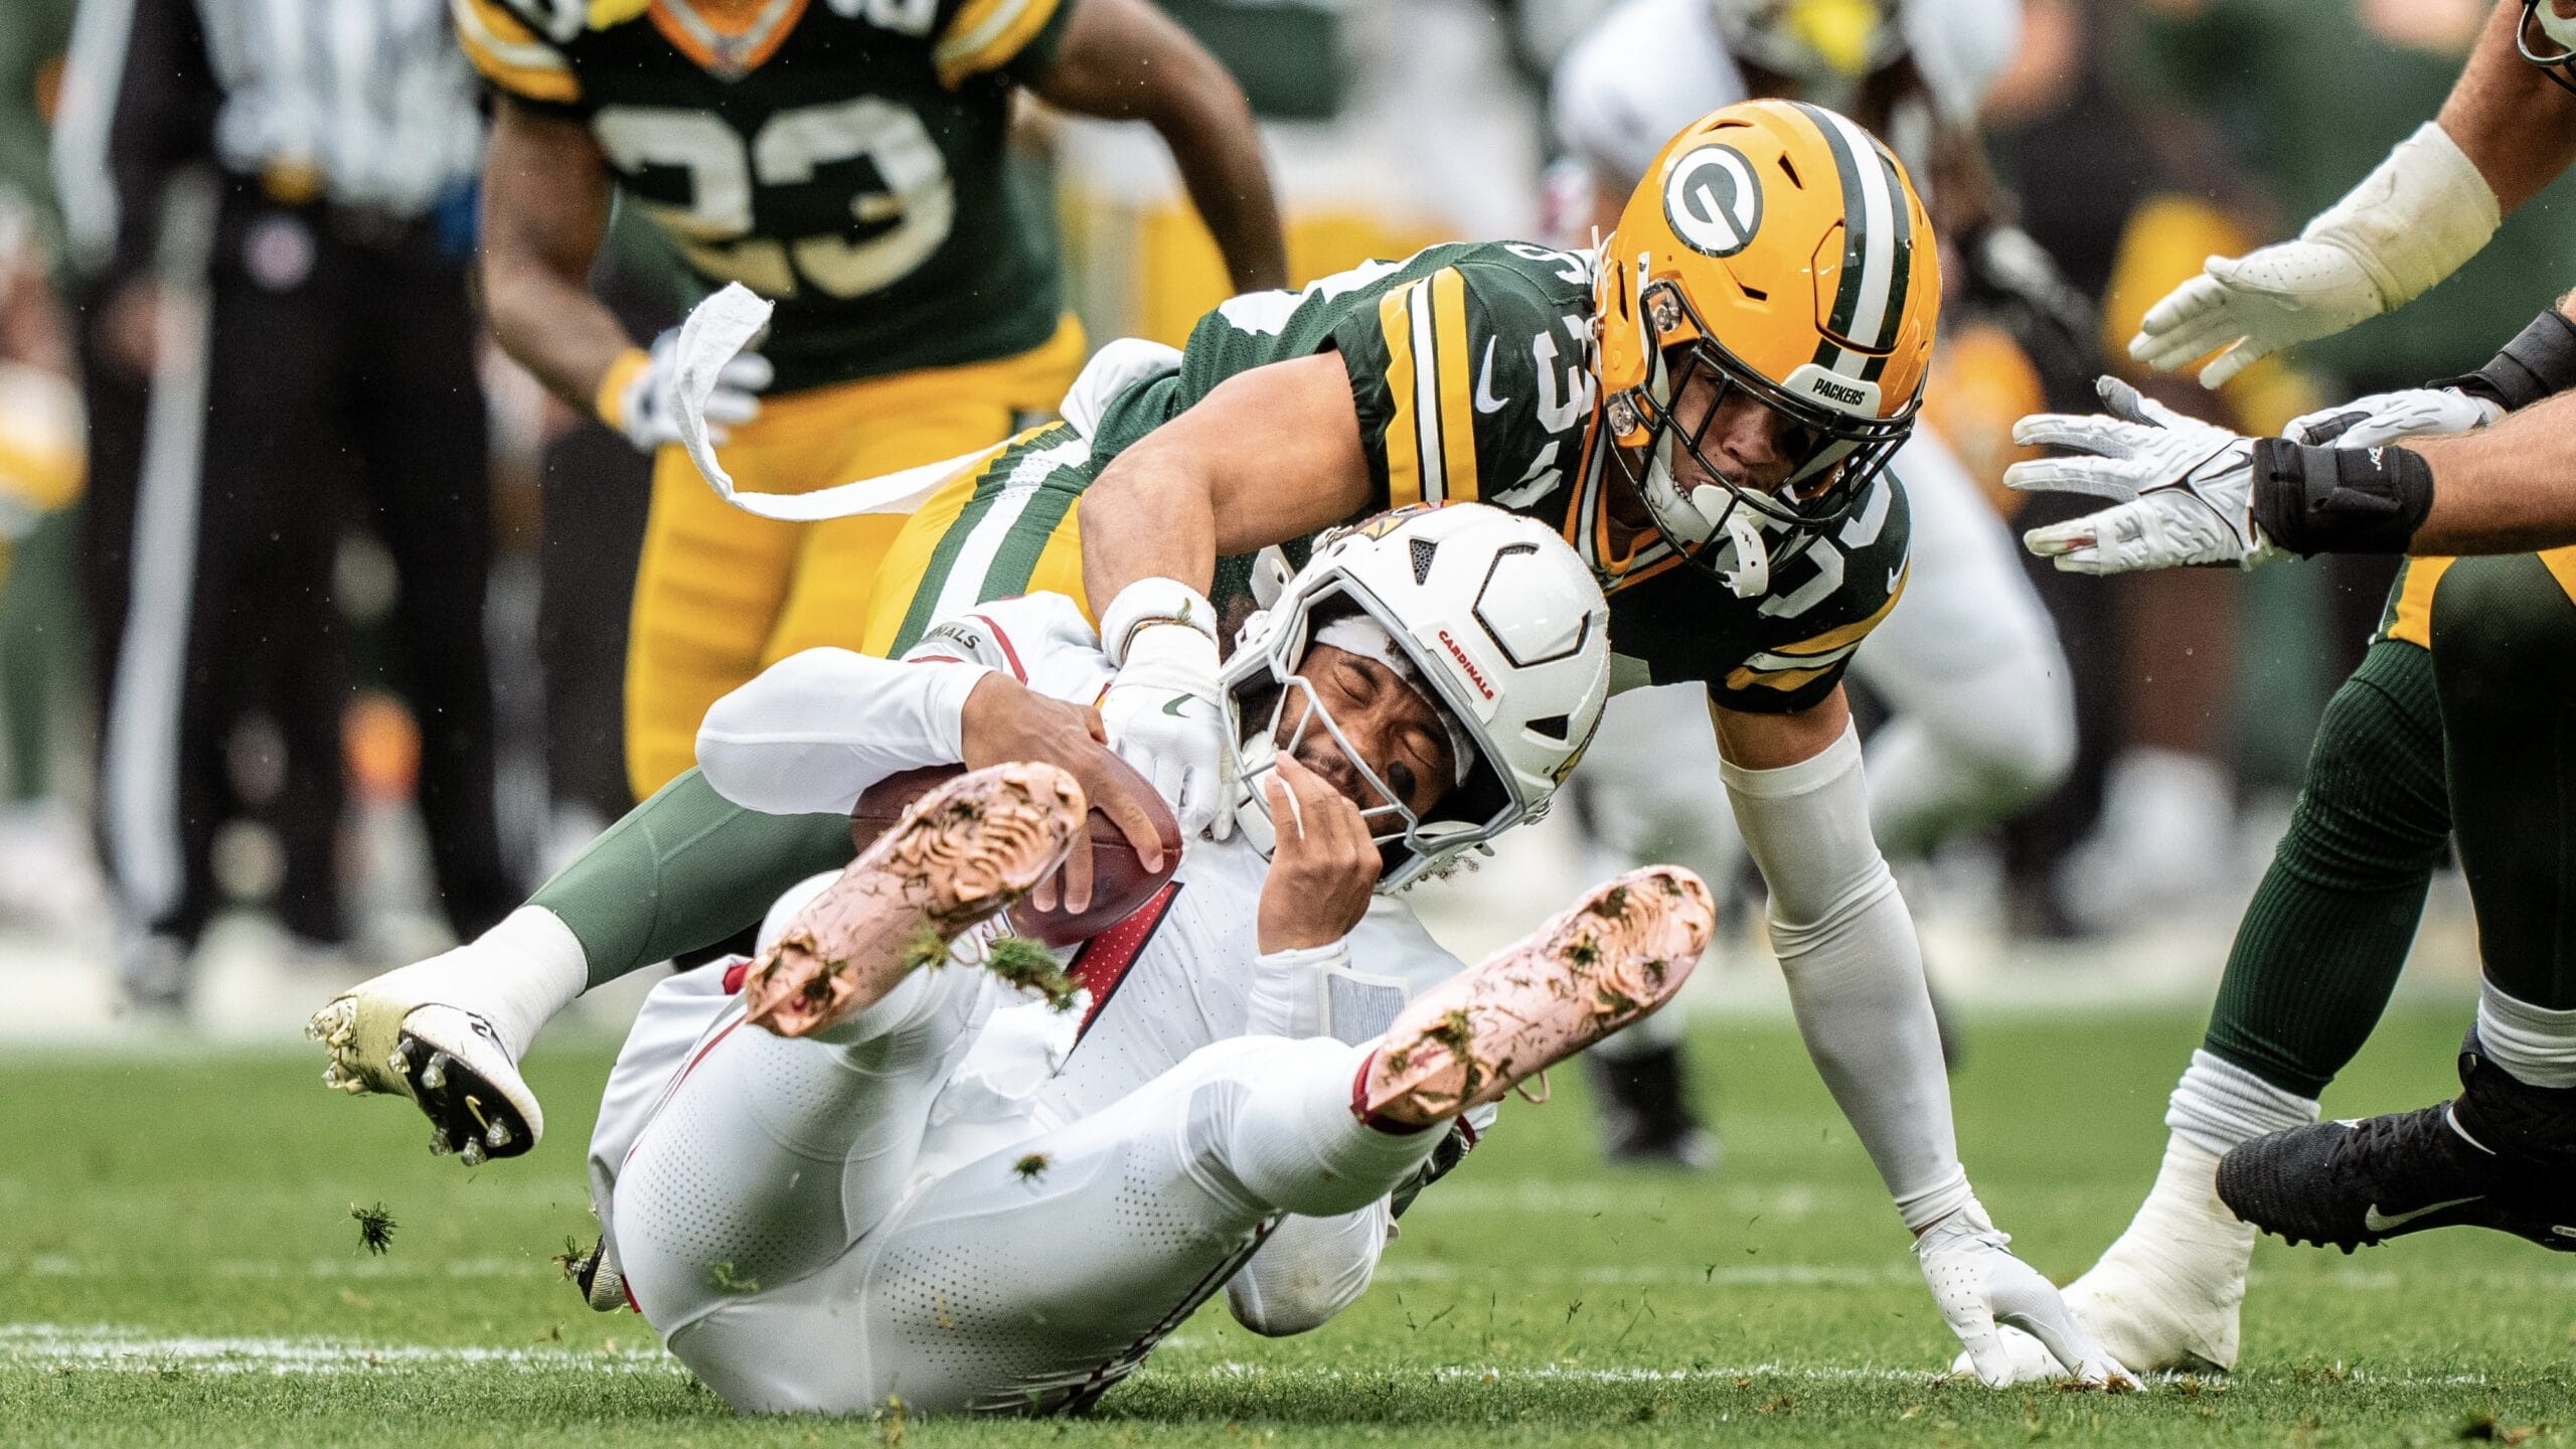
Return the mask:
<svg viewBox="0 0 2576 1449">
<path fill-rule="evenodd" d="M 685 771 L 629 810 L 528 905 L 572 928 L 598 987 L 757 926 L 778 892 L 837 871 L 855 853 L 842 815 L 760 815 Z"/>
</svg>

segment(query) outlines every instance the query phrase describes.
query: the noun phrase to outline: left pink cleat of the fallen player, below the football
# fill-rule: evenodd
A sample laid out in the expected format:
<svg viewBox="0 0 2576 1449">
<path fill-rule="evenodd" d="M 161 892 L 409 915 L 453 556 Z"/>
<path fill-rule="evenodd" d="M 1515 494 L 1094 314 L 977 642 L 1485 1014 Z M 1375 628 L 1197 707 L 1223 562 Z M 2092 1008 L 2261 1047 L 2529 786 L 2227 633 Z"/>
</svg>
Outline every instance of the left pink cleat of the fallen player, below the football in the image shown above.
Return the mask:
<svg viewBox="0 0 2576 1449">
<path fill-rule="evenodd" d="M 811 1036 L 884 1000 L 1046 879 L 1084 810 L 1074 776 L 1046 763 L 987 766 L 914 799 L 752 964 L 744 1018 Z"/>
</svg>

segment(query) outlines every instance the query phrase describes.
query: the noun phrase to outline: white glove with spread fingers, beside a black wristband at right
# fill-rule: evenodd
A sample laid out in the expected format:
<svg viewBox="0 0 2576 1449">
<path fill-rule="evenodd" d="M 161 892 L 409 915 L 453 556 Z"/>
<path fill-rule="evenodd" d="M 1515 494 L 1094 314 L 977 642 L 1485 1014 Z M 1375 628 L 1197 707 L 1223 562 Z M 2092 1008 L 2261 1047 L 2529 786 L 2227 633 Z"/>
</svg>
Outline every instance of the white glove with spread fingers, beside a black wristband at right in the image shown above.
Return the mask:
<svg viewBox="0 0 2576 1449">
<path fill-rule="evenodd" d="M 2022 547 L 2069 572 L 2254 567 L 2280 557 L 2254 526 L 2251 438 L 2184 418 L 2112 376 L 2099 392 L 2110 418 L 2032 413 L 2012 425 L 2014 443 L 2092 456 L 2017 462 L 2004 469 L 2004 487 L 2120 503 L 2032 529 Z"/>
</svg>

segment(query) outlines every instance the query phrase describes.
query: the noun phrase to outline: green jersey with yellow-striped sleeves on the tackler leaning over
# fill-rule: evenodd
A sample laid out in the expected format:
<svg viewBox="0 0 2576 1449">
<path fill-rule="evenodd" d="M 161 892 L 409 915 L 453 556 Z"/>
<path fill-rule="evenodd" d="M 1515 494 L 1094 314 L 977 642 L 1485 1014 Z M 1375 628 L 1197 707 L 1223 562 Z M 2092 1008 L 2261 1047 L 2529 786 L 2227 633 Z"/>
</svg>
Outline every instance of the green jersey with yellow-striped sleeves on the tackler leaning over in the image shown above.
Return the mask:
<svg viewBox="0 0 2576 1449">
<path fill-rule="evenodd" d="M 1808 709 L 1904 590 L 1893 469 L 1754 598 L 1662 541 L 1613 557 L 1607 490 L 1628 485 L 1592 438 L 1592 260 L 1522 242 L 1443 245 L 1224 302 L 1190 330 L 1177 374 L 1108 407 L 1092 467 L 1218 382 L 1327 348 L 1350 376 L 1370 511 L 1481 500 L 1556 526 L 1610 596 L 1618 686 L 1703 681 L 1728 709 Z"/>
</svg>

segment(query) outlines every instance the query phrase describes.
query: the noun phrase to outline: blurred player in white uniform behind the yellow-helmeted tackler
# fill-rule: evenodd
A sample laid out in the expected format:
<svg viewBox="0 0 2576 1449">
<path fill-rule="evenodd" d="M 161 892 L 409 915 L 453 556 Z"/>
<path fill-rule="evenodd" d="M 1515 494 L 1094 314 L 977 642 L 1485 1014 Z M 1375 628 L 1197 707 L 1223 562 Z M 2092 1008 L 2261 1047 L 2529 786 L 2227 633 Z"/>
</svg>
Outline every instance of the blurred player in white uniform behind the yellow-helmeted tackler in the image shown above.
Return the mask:
<svg viewBox="0 0 2576 1449">
<path fill-rule="evenodd" d="M 1978 152 L 1978 101 L 2017 39 L 2017 0 L 1628 0 L 1556 67 L 1553 121 L 1574 157 L 1551 178 L 1551 229 L 1561 245 L 1607 235 L 1672 131 L 1713 106 L 1783 95 L 1850 111 L 1927 178 L 1950 291 L 1991 276 L 1991 250 L 2007 266 L 2035 258 L 2022 268 L 2063 291 L 2038 248 L 1996 224 L 1996 183 Z M 1638 64 L 1646 54 L 1656 64 Z M 1906 598 L 1852 663 L 1855 681 L 1888 709 L 1870 735 L 1868 779 L 1870 828 L 1893 864 L 2048 797 L 2076 748 L 2048 611 L 1986 490 L 1935 428 L 1917 428 L 1891 464 L 1914 523 Z M 1674 740 L 1698 737 L 1698 712 L 1682 688 L 1628 691 L 1613 706 L 1577 784 L 1577 820 L 1602 864 L 1682 851 L 1710 879 L 1736 874 L 1716 761 L 1672 761 Z M 1710 1158 L 1680 1042 L 1682 1013 L 1669 1011 L 1589 1055 L 1607 1088 L 1613 1158 Z"/>
</svg>

